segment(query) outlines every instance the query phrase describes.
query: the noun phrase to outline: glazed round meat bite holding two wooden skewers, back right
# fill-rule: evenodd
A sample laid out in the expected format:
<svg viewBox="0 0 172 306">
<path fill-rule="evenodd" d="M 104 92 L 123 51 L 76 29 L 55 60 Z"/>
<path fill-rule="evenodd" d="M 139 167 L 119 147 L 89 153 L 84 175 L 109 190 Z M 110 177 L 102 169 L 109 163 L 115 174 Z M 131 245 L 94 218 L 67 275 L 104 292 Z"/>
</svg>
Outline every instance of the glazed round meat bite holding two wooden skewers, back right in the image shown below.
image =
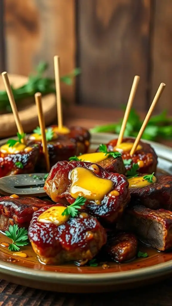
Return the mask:
<svg viewBox="0 0 172 306">
<path fill-rule="evenodd" d="M 131 162 L 126 165 L 126 170 L 130 170 L 132 168 L 133 163 L 137 163 L 139 166 L 138 171 L 140 173 L 148 173 L 156 172 L 157 166 L 157 155 L 154 149 L 150 146 L 150 144 L 144 143 L 142 141 L 139 142 L 135 153 L 131 156 L 129 154 L 134 139 L 132 138 L 124 138 L 122 144 L 117 147 L 118 139 L 113 139 L 107 144 L 108 151 L 119 151 L 122 153 L 123 160 L 131 160 Z"/>
</svg>

